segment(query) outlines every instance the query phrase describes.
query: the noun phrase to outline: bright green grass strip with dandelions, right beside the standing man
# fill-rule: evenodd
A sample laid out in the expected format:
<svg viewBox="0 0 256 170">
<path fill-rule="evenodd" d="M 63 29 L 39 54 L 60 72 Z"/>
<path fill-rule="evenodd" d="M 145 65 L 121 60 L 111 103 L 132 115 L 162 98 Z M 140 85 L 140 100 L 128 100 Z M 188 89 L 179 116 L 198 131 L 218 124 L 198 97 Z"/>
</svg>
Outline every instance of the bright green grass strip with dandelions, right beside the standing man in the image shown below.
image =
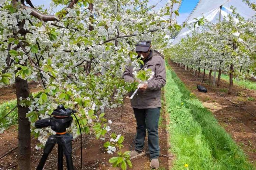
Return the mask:
<svg viewBox="0 0 256 170">
<path fill-rule="evenodd" d="M 176 157 L 172 170 L 185 170 L 185 164 L 189 170 L 255 169 L 212 113 L 191 97 L 182 81 L 167 68 L 164 96 L 170 117 L 170 151 Z"/>
</svg>

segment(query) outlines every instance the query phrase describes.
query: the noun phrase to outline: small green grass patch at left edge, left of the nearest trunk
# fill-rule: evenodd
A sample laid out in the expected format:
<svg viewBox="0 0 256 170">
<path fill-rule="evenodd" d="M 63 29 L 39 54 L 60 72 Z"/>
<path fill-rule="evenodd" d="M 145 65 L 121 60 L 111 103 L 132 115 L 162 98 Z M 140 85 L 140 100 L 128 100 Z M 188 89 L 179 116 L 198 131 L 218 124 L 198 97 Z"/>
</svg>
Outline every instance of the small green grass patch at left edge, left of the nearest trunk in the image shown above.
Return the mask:
<svg viewBox="0 0 256 170">
<path fill-rule="evenodd" d="M 8 114 L 17 105 L 16 100 L 10 100 L 0 104 L 0 131 L 7 129 L 11 125 L 18 123 L 18 113 L 17 108 L 12 111 L 6 118 L 5 115 Z"/>
</svg>

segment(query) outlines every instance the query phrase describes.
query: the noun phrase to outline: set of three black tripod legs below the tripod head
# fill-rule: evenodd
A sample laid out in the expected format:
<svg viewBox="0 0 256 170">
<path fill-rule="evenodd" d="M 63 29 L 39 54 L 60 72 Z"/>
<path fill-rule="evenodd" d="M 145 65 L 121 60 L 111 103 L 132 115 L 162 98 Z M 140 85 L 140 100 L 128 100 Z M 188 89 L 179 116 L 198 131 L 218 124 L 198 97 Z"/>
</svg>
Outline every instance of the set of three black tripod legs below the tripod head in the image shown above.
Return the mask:
<svg viewBox="0 0 256 170">
<path fill-rule="evenodd" d="M 63 152 L 66 157 L 68 170 L 74 170 L 72 162 L 72 134 L 54 134 L 51 135 L 45 144 L 43 149 L 43 156 L 40 159 L 36 170 L 42 170 L 45 165 L 46 159 L 53 149 L 54 145 L 58 144 L 58 170 L 63 170 Z"/>
</svg>

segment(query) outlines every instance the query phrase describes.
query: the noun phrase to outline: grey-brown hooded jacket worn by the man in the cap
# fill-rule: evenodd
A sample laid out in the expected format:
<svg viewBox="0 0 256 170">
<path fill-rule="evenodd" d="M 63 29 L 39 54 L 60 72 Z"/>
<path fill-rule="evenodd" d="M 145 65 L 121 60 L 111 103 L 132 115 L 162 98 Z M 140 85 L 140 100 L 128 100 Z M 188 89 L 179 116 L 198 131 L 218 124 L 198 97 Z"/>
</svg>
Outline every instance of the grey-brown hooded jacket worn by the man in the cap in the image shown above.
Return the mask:
<svg viewBox="0 0 256 170">
<path fill-rule="evenodd" d="M 150 53 L 152 57 L 145 63 L 142 69 L 147 68 L 154 71 L 154 76 L 151 80 L 147 81 L 147 89 L 142 92 L 137 91 L 137 94 L 131 99 L 131 106 L 133 108 L 156 108 L 161 107 L 161 88 L 166 84 L 166 69 L 164 57 L 155 50 Z M 126 82 L 134 82 L 134 76 L 132 74 L 132 66 L 125 66 L 125 71 L 122 78 Z M 129 93 L 129 96 L 133 92 Z"/>
</svg>

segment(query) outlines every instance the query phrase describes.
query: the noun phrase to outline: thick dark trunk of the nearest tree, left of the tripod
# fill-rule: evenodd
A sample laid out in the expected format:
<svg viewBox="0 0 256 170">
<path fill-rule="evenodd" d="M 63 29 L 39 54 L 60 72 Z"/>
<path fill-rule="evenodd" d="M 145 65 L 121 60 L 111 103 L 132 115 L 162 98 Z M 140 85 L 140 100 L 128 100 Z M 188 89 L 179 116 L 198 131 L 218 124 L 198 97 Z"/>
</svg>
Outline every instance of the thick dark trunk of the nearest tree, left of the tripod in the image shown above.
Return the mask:
<svg viewBox="0 0 256 170">
<path fill-rule="evenodd" d="M 15 74 L 18 70 L 15 70 Z M 26 113 L 29 111 L 28 107 L 19 106 L 19 97 L 26 99 L 29 96 L 28 81 L 21 78 L 15 78 L 16 96 L 18 105 L 18 169 L 30 170 L 30 155 L 31 155 L 31 136 L 30 136 L 30 122 L 26 118 Z"/>
</svg>

